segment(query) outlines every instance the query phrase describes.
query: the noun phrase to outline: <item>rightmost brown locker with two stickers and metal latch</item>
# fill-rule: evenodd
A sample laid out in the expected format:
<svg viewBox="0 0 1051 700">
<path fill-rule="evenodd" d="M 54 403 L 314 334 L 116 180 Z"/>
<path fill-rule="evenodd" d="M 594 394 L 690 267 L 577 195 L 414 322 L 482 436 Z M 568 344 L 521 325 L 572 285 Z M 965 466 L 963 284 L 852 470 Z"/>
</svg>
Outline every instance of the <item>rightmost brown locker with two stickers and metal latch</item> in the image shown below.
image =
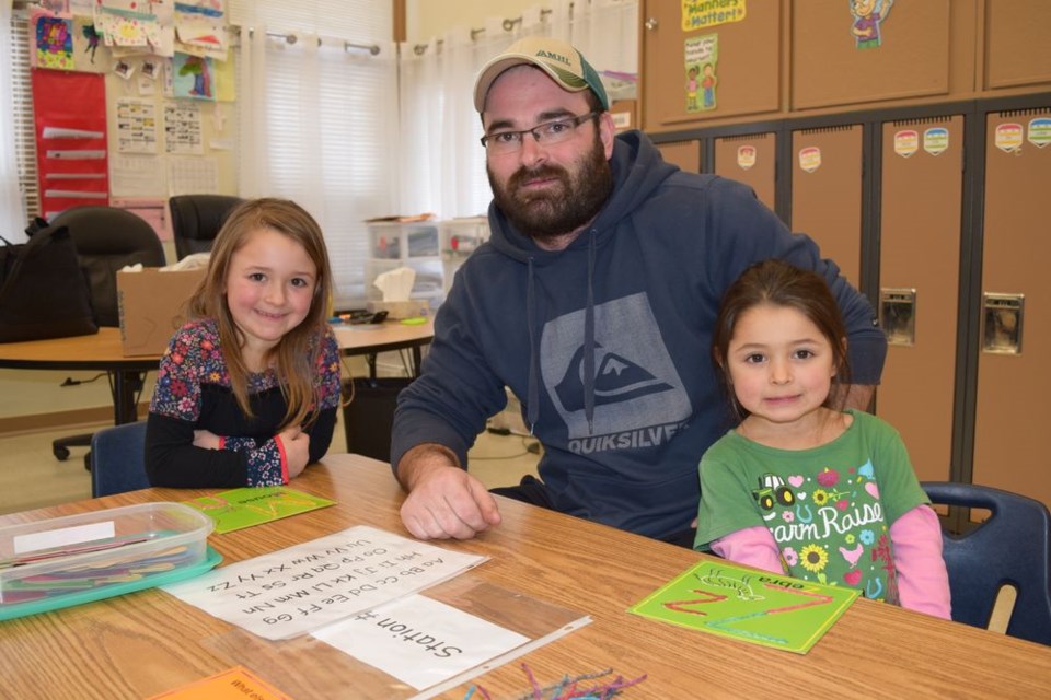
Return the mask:
<svg viewBox="0 0 1051 700">
<path fill-rule="evenodd" d="M 985 125 L 982 329 L 975 483 L 1051 505 L 1051 108 L 990 114 Z"/>
</svg>

